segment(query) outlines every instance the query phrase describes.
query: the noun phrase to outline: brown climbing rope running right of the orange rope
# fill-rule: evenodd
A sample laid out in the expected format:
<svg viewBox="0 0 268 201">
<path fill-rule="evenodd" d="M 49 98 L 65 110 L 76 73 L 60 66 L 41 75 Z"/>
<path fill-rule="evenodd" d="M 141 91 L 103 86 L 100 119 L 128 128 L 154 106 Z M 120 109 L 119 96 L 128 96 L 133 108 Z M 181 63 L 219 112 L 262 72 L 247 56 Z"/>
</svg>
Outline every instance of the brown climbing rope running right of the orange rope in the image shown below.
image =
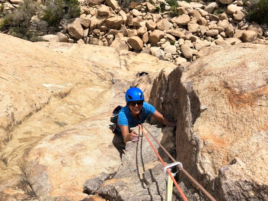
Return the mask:
<svg viewBox="0 0 268 201">
<path fill-rule="evenodd" d="M 152 135 L 152 133 L 142 124 L 142 126 L 146 129 L 146 131 L 152 136 L 152 138 L 155 140 L 155 142 L 157 142 L 157 144 L 163 149 L 163 151 L 169 156 L 169 158 L 171 158 L 171 160 L 173 162 L 177 162 L 169 153 L 168 151 L 160 144 L 160 142 L 158 142 L 157 139 L 155 139 L 155 137 Z M 141 128 L 141 126 L 139 125 L 139 127 Z M 141 128 L 142 129 L 142 128 Z M 143 130 L 142 130 L 143 131 Z M 143 132 L 143 134 L 145 134 Z M 177 165 L 177 167 L 183 171 L 183 173 L 197 186 L 199 187 L 200 190 L 202 190 L 202 192 L 212 201 L 216 201 L 215 198 L 212 197 L 212 195 L 209 194 L 209 192 L 207 192 L 186 170 L 183 169 L 183 167 L 181 167 L 180 165 Z"/>
</svg>

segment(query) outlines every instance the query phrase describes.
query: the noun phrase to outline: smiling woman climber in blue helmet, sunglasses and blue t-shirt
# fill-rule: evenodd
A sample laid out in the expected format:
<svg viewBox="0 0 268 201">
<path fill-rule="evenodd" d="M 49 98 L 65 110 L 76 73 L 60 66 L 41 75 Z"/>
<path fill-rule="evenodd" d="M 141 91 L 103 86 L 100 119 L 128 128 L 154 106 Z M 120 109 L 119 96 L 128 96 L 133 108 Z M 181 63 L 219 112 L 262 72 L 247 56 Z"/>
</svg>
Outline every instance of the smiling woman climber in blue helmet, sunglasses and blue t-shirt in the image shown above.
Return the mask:
<svg viewBox="0 0 268 201">
<path fill-rule="evenodd" d="M 137 132 L 130 131 L 130 128 L 143 123 L 148 115 L 152 115 L 166 126 L 175 126 L 173 122 L 170 122 L 166 117 L 163 117 L 155 107 L 144 102 L 144 95 L 139 88 L 129 88 L 126 91 L 125 99 L 126 106 L 120 110 L 116 126 L 120 137 L 125 143 L 128 141 L 137 142 L 139 140 Z"/>
</svg>

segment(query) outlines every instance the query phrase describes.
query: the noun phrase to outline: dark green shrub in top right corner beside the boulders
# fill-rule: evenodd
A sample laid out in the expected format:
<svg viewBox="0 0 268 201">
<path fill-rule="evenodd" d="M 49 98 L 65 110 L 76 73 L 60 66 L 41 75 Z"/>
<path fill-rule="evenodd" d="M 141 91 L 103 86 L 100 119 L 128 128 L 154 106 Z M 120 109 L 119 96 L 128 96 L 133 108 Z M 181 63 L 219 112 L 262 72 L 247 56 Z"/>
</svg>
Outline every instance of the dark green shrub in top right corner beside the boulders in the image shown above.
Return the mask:
<svg viewBox="0 0 268 201">
<path fill-rule="evenodd" d="M 247 21 L 255 21 L 259 24 L 268 23 L 268 0 L 260 0 L 247 8 Z"/>
</svg>

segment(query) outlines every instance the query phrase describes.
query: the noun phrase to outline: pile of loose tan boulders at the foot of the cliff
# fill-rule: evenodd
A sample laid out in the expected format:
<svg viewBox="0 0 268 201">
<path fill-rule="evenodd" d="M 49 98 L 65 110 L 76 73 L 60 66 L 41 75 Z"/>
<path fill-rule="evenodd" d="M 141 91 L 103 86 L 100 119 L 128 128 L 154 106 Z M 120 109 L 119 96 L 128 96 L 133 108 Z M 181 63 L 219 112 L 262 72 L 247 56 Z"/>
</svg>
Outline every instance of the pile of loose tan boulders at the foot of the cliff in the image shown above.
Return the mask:
<svg viewBox="0 0 268 201">
<path fill-rule="evenodd" d="M 116 0 L 79 3 L 80 18 L 62 24 L 54 35 L 42 36 L 44 40 L 111 46 L 178 65 L 241 42 L 268 43 L 267 24 L 244 18 L 244 6 L 250 1 L 177 1 L 180 15 L 172 18 L 165 0 L 130 2 L 127 8 Z"/>
</svg>

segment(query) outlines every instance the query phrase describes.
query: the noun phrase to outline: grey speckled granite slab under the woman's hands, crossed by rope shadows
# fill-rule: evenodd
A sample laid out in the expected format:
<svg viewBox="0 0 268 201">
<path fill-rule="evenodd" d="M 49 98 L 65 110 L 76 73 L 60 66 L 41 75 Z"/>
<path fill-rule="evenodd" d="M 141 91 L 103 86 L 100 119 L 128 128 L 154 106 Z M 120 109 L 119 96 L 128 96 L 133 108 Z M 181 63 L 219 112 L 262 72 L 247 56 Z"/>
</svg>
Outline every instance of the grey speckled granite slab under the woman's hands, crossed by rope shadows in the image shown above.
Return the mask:
<svg viewBox="0 0 268 201">
<path fill-rule="evenodd" d="M 174 147 L 173 128 L 160 129 L 147 123 L 144 125 L 169 152 L 172 152 Z M 142 135 L 138 127 L 133 129 Z M 149 138 L 152 139 L 151 136 Z M 165 157 L 159 145 L 153 139 L 151 142 L 161 157 Z M 163 159 L 167 164 L 167 158 Z M 115 175 L 100 174 L 98 177 L 87 180 L 84 189 L 88 193 L 98 194 L 109 200 L 130 200 L 130 198 L 135 201 L 163 200 L 166 182 L 167 175 L 163 171 L 163 165 L 143 136 L 137 143 L 128 142 L 126 144 L 126 154 L 122 158 L 122 166 Z M 176 190 L 174 190 L 174 194 L 175 192 Z"/>
</svg>

